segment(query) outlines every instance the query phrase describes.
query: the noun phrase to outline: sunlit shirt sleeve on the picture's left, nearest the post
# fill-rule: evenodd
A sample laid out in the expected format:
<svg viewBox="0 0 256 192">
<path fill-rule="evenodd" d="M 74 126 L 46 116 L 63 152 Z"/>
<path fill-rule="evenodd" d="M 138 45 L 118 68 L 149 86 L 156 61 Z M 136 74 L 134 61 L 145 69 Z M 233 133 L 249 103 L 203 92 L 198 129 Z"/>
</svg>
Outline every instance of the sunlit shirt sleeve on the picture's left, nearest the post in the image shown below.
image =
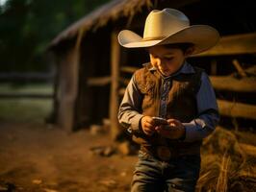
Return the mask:
<svg viewBox="0 0 256 192">
<path fill-rule="evenodd" d="M 127 85 L 118 110 L 118 121 L 129 132 L 141 132 L 141 101 L 142 94 L 138 88 L 135 76 Z"/>
</svg>

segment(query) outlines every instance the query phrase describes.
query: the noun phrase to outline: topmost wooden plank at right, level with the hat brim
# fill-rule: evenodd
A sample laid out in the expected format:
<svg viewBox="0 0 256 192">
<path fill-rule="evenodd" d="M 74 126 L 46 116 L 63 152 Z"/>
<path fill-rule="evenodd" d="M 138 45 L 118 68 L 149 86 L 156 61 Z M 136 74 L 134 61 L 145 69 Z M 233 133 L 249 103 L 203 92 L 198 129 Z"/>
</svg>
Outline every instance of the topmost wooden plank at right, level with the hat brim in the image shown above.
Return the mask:
<svg viewBox="0 0 256 192">
<path fill-rule="evenodd" d="M 224 56 L 256 53 L 256 33 L 223 36 L 212 49 L 192 57 Z"/>
</svg>

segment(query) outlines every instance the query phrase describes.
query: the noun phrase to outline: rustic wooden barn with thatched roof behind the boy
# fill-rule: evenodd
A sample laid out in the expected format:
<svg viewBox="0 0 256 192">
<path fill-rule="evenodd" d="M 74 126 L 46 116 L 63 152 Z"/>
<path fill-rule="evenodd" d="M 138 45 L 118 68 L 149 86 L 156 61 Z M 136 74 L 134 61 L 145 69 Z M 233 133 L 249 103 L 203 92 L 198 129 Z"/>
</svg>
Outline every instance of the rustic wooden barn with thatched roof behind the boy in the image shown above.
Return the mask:
<svg viewBox="0 0 256 192">
<path fill-rule="evenodd" d="M 142 34 L 146 15 L 166 7 L 185 12 L 192 24 L 218 29 L 218 45 L 189 60 L 211 75 L 219 90 L 222 115 L 256 119 L 256 23 L 250 1 L 113 0 L 72 24 L 50 43 L 48 50 L 57 65 L 56 123 L 72 131 L 110 118 L 115 138 L 123 88 L 132 72 L 148 60 L 144 50 L 124 50 L 116 36 L 122 29 Z"/>
</svg>

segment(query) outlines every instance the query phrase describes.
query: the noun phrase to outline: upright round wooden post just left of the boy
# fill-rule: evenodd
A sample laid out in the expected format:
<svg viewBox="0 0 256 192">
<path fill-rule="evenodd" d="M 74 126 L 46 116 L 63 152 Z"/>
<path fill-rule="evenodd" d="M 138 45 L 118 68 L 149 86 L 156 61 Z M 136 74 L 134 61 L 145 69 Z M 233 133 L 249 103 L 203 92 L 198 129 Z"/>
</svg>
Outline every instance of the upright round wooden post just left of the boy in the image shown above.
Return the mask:
<svg viewBox="0 0 256 192">
<path fill-rule="evenodd" d="M 113 32 L 111 36 L 111 96 L 110 96 L 110 120 L 111 136 L 115 140 L 120 132 L 117 120 L 118 101 L 118 82 L 119 82 L 119 59 L 120 46 L 117 42 L 117 33 Z"/>
</svg>

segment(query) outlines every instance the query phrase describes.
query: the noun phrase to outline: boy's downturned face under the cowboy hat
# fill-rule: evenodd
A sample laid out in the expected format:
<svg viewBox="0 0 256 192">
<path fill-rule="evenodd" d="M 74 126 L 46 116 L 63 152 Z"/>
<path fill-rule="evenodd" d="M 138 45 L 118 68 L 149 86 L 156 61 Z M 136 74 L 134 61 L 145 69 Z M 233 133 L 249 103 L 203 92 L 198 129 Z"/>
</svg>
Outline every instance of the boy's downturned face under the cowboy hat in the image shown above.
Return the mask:
<svg viewBox="0 0 256 192">
<path fill-rule="evenodd" d="M 153 46 L 148 49 L 150 62 L 164 76 L 175 73 L 187 58 L 187 54 L 178 48 L 166 48 L 163 45 Z"/>
</svg>

